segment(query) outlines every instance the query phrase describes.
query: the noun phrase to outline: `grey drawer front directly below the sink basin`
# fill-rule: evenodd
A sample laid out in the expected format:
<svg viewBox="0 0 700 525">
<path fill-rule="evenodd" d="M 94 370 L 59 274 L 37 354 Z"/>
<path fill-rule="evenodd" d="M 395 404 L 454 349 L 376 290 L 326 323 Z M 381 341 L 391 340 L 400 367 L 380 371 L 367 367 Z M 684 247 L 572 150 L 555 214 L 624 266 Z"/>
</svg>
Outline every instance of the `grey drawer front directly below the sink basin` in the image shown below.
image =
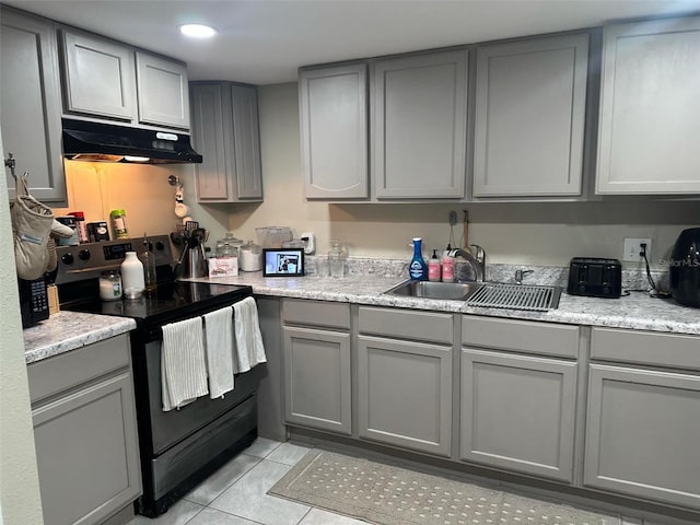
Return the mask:
<svg viewBox="0 0 700 525">
<path fill-rule="evenodd" d="M 452 345 L 452 314 L 360 307 L 360 332 Z"/>
</svg>

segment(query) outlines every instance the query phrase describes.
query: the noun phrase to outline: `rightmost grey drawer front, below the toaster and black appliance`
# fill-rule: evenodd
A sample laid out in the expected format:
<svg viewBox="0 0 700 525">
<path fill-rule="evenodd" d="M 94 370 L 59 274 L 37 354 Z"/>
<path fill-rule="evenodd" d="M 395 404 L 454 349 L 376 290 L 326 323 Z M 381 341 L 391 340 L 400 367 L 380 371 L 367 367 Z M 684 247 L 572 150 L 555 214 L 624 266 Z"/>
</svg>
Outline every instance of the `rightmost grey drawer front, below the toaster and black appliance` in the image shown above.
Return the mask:
<svg viewBox="0 0 700 525">
<path fill-rule="evenodd" d="M 700 337 L 593 328 L 591 358 L 700 370 Z"/>
</svg>

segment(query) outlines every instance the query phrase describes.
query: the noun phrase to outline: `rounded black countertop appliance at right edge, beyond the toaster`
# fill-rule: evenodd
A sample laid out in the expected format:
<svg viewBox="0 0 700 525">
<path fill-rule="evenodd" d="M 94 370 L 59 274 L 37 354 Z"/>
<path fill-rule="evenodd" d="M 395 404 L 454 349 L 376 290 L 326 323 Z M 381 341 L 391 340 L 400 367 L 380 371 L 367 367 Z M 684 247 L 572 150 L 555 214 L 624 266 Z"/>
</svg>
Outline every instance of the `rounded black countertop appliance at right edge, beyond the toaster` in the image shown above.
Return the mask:
<svg viewBox="0 0 700 525">
<path fill-rule="evenodd" d="M 680 232 L 670 255 L 669 273 L 673 298 L 700 308 L 700 228 Z"/>
</svg>

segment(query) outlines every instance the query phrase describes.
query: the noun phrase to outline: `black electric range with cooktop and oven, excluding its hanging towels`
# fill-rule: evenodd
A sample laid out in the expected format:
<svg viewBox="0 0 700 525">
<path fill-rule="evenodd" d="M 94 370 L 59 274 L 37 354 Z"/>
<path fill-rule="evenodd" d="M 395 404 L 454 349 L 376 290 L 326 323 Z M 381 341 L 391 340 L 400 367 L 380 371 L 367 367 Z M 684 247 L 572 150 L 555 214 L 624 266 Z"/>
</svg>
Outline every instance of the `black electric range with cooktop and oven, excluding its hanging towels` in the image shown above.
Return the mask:
<svg viewBox="0 0 700 525">
<path fill-rule="evenodd" d="M 262 366 L 237 374 L 235 388 L 223 398 L 201 396 L 178 410 L 163 410 L 162 327 L 231 306 L 253 295 L 253 289 L 176 281 L 170 238 L 150 241 L 158 275 L 156 292 L 150 296 L 100 299 L 101 272 L 118 269 L 127 252 L 142 250 L 138 238 L 59 247 L 56 283 L 61 310 L 137 323 L 130 343 L 143 494 L 135 505 L 137 513 L 155 517 L 256 439 Z"/>
</svg>

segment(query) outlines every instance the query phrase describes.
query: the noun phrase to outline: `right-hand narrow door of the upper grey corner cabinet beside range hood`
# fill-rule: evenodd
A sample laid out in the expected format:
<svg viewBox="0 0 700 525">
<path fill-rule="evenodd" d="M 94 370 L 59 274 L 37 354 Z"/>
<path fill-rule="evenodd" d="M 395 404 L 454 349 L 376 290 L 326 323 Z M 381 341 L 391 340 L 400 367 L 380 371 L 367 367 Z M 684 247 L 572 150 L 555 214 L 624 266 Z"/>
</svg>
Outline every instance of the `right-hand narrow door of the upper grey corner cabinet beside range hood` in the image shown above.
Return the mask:
<svg viewBox="0 0 700 525">
<path fill-rule="evenodd" d="M 262 198 L 258 92 L 255 86 L 231 86 L 233 145 L 238 199 Z"/>
</svg>

